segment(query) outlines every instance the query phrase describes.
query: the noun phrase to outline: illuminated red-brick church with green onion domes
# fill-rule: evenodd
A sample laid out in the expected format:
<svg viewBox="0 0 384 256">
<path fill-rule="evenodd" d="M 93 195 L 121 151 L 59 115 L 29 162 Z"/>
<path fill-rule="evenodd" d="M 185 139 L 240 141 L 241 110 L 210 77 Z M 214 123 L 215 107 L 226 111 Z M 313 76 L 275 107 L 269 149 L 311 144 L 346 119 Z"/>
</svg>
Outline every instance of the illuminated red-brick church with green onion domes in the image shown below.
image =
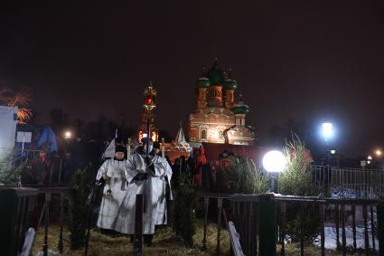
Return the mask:
<svg viewBox="0 0 384 256">
<path fill-rule="evenodd" d="M 189 118 L 188 135 L 191 142 L 232 145 L 252 145 L 255 136 L 246 127 L 248 106 L 240 99 L 235 102 L 237 81 L 223 71 L 215 60 L 209 71 L 203 70 L 196 81 L 196 109 Z"/>
</svg>

